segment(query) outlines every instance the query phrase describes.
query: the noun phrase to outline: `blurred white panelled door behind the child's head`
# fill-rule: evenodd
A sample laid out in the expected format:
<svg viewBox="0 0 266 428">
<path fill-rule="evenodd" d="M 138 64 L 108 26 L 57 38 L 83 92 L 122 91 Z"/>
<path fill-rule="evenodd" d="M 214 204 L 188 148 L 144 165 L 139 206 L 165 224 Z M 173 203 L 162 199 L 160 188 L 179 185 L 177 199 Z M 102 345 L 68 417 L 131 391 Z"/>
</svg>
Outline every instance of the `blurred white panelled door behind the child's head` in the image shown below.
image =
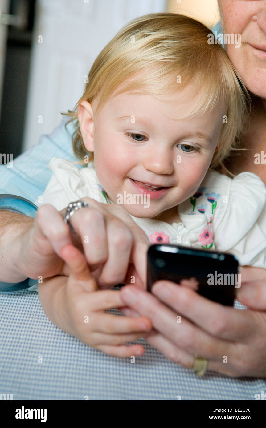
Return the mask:
<svg viewBox="0 0 266 428">
<path fill-rule="evenodd" d="M 166 0 L 37 0 L 22 150 L 50 134 L 83 94 L 102 48 L 137 16 L 164 12 Z"/>
</svg>

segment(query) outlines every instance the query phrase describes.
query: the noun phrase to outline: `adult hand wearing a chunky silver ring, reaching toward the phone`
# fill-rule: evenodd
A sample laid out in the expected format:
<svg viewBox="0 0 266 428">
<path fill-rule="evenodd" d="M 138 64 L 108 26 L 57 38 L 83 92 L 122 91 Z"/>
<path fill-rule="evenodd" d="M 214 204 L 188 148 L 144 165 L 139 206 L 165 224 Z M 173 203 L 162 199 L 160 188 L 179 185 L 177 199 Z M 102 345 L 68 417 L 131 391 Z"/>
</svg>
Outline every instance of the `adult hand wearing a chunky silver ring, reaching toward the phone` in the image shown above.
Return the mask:
<svg viewBox="0 0 266 428">
<path fill-rule="evenodd" d="M 53 205 L 44 204 L 38 209 L 34 227 L 27 230 L 21 244 L 21 269 L 32 278 L 67 276 L 68 267 L 62 263 L 60 251 L 65 245 L 74 244 L 83 249 L 100 288 L 131 282 L 132 275 L 136 285 L 146 287 L 146 253 L 150 243 L 145 232 L 122 206 L 88 197 L 82 200 L 89 208 L 79 209 L 71 216 L 76 233 L 71 233 L 64 222 L 66 208 L 57 211 Z"/>
</svg>

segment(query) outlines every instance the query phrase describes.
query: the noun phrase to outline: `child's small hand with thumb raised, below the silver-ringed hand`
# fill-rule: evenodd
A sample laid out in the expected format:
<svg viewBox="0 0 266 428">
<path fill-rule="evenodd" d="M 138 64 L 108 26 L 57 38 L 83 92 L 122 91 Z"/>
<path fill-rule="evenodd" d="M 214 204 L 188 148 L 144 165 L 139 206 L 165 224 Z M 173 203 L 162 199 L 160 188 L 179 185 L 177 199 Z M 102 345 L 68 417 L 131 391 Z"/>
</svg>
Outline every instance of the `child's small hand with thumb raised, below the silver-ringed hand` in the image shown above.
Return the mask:
<svg viewBox="0 0 266 428">
<path fill-rule="evenodd" d="M 152 329 L 150 319 L 107 314 L 106 309 L 125 306 L 120 298 L 120 291 L 99 290 L 84 255 L 73 245 L 63 247 L 60 255 L 70 274 L 63 285 L 66 309 L 63 324 L 67 328 L 64 325 L 58 327 L 106 354 L 117 357 L 144 354 L 142 345 L 123 344 L 145 337 Z"/>
</svg>

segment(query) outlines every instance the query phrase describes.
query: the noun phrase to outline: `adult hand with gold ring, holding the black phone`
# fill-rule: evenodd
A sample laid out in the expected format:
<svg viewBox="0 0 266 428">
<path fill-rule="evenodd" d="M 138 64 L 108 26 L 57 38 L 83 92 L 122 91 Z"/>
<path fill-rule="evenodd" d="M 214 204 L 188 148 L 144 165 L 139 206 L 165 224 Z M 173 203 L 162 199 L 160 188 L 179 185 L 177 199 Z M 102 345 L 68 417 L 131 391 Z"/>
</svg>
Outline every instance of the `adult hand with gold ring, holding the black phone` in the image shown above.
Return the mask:
<svg viewBox="0 0 266 428">
<path fill-rule="evenodd" d="M 244 297 L 251 278 L 255 298 Z M 237 297 L 261 310 L 238 310 L 212 302 L 189 287 L 157 281 L 152 294 L 127 285 L 121 298 L 139 315 L 151 319 L 155 330 L 146 337 L 169 360 L 192 369 L 194 355 L 208 360 L 208 370 L 224 375 L 266 377 L 266 299 L 256 292 L 266 287 L 266 270 L 244 267 Z M 129 313 L 129 312 L 128 312 Z M 137 316 L 139 316 L 137 315 Z M 180 318 L 177 318 L 181 316 Z"/>
</svg>

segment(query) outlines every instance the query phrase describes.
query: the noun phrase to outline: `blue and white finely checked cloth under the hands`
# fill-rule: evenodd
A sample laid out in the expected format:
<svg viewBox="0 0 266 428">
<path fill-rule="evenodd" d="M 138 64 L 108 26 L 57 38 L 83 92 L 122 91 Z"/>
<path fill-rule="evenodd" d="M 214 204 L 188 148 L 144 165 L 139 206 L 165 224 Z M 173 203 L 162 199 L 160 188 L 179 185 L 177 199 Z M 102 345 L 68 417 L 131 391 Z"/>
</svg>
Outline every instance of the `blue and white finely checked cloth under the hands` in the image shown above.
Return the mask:
<svg viewBox="0 0 266 428">
<path fill-rule="evenodd" d="M 14 400 L 254 400 L 266 391 L 265 379 L 201 379 L 144 339 L 135 363 L 103 354 L 54 326 L 33 291 L 0 294 L 0 314 L 0 393 Z"/>
</svg>

